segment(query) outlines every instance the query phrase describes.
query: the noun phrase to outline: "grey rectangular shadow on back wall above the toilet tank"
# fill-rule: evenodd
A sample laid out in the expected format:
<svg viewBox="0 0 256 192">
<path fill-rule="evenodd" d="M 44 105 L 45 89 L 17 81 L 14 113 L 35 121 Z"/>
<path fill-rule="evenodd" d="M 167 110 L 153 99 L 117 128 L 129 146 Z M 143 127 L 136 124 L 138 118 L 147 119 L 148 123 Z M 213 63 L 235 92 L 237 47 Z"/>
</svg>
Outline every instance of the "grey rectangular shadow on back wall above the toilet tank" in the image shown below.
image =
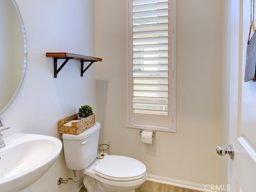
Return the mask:
<svg viewBox="0 0 256 192">
<path fill-rule="evenodd" d="M 105 124 L 106 121 L 106 104 L 108 96 L 108 81 L 107 80 L 96 80 L 96 121 L 100 122 L 101 125 Z M 101 134 L 104 135 L 104 129 L 100 130 Z"/>
</svg>

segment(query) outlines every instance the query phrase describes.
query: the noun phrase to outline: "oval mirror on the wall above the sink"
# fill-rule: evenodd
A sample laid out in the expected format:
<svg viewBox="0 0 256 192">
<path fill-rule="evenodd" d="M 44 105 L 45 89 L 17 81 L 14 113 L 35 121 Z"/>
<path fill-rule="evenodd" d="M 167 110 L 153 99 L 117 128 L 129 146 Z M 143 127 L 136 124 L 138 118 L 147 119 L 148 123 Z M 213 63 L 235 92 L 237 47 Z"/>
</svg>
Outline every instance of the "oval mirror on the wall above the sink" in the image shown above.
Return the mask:
<svg viewBox="0 0 256 192">
<path fill-rule="evenodd" d="M 24 24 L 15 0 L 0 0 L 0 114 L 16 98 L 27 60 Z"/>
</svg>

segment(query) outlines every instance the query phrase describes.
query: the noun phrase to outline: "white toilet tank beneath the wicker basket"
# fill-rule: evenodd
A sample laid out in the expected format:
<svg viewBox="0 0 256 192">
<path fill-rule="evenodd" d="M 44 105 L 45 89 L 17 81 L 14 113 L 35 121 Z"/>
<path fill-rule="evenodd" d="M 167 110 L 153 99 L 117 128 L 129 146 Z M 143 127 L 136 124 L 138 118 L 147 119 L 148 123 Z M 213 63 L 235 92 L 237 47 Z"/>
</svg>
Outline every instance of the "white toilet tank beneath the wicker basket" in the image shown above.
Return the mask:
<svg viewBox="0 0 256 192">
<path fill-rule="evenodd" d="M 62 134 L 68 169 L 83 170 L 96 159 L 99 134 L 100 123 L 98 122 L 79 135 Z"/>
</svg>

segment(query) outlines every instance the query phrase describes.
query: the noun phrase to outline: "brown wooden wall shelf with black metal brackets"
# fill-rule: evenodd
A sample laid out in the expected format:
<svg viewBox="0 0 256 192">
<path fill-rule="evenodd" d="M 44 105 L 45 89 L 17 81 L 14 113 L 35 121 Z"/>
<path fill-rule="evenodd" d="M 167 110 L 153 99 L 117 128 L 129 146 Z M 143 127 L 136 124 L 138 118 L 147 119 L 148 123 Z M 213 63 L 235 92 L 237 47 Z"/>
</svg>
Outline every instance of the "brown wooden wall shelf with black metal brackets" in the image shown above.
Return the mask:
<svg viewBox="0 0 256 192">
<path fill-rule="evenodd" d="M 73 53 L 46 53 L 46 57 L 53 57 L 54 58 L 54 78 L 57 78 L 58 72 L 64 67 L 64 65 L 70 59 L 80 60 L 81 63 L 81 77 L 83 76 L 84 72 L 94 63 L 97 61 L 102 61 L 102 58 L 97 57 L 90 57 L 85 55 L 78 55 Z M 62 65 L 58 68 L 57 63 L 58 59 L 65 59 Z M 90 62 L 90 64 L 84 69 L 84 62 Z"/>
</svg>

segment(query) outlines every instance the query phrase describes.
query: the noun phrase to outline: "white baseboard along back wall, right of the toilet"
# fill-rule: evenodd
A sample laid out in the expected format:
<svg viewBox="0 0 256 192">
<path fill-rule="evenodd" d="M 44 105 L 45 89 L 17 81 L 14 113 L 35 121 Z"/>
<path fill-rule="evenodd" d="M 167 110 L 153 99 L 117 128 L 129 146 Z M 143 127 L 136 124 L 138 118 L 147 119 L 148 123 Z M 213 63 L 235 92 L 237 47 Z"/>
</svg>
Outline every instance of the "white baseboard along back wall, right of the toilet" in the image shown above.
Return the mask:
<svg viewBox="0 0 256 192">
<path fill-rule="evenodd" d="M 177 179 L 156 176 L 156 175 L 151 175 L 151 174 L 147 174 L 147 180 L 152 181 L 152 182 L 192 189 L 192 190 L 198 190 L 198 191 L 202 191 L 202 192 L 216 192 L 213 190 L 205 189 L 204 184 L 193 183 L 193 182 L 188 182 L 188 181 L 183 181 L 183 180 L 177 180 Z"/>
</svg>

